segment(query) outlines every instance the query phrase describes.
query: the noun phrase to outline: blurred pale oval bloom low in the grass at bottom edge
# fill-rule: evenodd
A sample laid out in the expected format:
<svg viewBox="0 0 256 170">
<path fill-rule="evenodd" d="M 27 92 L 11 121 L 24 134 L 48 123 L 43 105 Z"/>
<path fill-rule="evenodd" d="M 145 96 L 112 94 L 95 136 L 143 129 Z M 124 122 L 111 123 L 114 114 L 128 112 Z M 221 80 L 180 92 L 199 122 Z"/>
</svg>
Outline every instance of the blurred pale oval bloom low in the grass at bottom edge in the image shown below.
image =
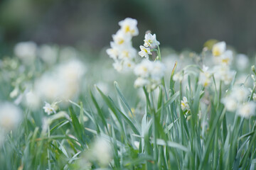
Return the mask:
<svg viewBox="0 0 256 170">
<path fill-rule="evenodd" d="M 110 143 L 103 137 L 97 137 L 92 146 L 92 156 L 97 159 L 100 164 L 107 166 L 112 159 L 112 147 Z"/>
</svg>

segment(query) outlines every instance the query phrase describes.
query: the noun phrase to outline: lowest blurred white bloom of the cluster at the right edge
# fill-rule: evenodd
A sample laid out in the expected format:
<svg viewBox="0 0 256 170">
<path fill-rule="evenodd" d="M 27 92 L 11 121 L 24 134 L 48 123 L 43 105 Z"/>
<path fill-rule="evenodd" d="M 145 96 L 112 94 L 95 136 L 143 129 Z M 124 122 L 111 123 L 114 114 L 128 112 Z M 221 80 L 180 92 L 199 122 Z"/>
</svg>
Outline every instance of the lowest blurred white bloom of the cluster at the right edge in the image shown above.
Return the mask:
<svg viewBox="0 0 256 170">
<path fill-rule="evenodd" d="M 238 108 L 238 115 L 244 118 L 250 118 L 250 116 L 255 115 L 256 104 L 253 101 L 244 103 Z"/>
</svg>

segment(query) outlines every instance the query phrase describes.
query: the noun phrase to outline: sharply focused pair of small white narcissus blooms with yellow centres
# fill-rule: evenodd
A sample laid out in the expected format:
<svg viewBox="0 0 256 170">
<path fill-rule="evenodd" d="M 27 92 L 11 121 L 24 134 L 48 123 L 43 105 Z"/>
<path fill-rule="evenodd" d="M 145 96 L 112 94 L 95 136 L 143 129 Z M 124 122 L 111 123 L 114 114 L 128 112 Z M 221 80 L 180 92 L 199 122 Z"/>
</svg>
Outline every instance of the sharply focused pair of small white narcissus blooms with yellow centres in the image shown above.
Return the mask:
<svg viewBox="0 0 256 170">
<path fill-rule="evenodd" d="M 151 33 L 146 33 L 145 34 L 145 39 L 144 39 L 144 46 L 140 45 L 140 52 L 139 55 L 141 57 L 145 57 L 146 59 L 149 59 L 149 55 L 152 55 L 151 49 L 157 47 L 160 45 L 160 42 L 156 40 L 156 34 L 151 35 Z"/>
</svg>

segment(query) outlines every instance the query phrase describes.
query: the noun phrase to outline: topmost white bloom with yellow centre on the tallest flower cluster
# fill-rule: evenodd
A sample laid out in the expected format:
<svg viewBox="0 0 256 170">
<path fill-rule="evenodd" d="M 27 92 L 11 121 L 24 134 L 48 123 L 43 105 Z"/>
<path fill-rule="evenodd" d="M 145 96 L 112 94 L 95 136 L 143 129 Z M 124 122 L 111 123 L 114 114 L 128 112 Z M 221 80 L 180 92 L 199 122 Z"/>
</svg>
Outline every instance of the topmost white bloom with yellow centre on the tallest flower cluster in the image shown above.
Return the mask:
<svg viewBox="0 0 256 170">
<path fill-rule="evenodd" d="M 123 21 L 119 21 L 119 26 L 124 34 L 136 36 L 139 34 L 137 28 L 137 20 L 132 18 L 125 18 Z"/>
</svg>

